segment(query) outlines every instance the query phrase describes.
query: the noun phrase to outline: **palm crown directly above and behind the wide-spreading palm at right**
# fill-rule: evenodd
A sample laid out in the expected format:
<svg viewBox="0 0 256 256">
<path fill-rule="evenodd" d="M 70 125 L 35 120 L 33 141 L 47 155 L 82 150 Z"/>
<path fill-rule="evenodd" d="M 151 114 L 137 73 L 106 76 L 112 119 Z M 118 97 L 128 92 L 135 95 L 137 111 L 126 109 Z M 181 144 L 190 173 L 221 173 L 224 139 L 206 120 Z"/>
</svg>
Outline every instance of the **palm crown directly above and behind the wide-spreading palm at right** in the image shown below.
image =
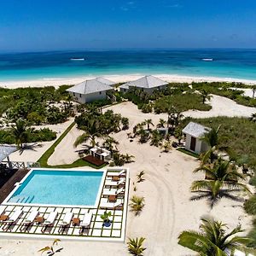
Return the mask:
<svg viewBox="0 0 256 256">
<path fill-rule="evenodd" d="M 225 183 L 238 183 L 239 179 L 245 179 L 243 174 L 237 172 L 235 165 L 221 158 L 218 158 L 213 165 L 196 168 L 194 172 L 205 172 L 207 179 L 219 180 Z"/>
</svg>

